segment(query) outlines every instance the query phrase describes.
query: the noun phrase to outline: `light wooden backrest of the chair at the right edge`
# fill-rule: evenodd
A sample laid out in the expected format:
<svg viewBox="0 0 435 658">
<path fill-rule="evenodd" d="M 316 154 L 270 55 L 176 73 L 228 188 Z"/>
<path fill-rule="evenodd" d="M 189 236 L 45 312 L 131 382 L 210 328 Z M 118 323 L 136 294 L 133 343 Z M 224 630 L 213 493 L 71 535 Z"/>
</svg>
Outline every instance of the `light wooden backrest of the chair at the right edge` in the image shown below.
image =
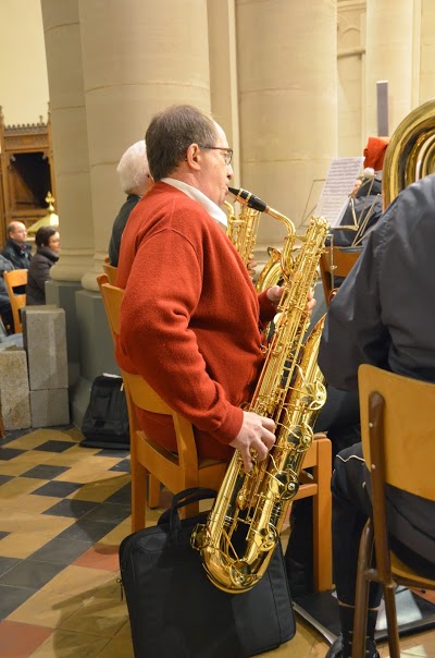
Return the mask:
<svg viewBox="0 0 435 658">
<path fill-rule="evenodd" d="M 360 366 L 358 381 L 368 468 L 378 459 L 373 443 L 371 448 L 372 434 L 372 441 L 383 449 L 384 464 L 376 470 L 383 467 L 385 482 L 435 500 L 435 383 L 366 364 Z"/>
</svg>

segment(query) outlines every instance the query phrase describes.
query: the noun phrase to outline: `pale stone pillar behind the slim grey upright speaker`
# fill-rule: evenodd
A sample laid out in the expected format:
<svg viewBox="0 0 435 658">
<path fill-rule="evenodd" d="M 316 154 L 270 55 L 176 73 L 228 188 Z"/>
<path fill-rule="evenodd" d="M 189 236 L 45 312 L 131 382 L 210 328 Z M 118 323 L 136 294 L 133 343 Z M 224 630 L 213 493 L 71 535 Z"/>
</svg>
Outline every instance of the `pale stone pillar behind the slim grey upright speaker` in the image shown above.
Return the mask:
<svg viewBox="0 0 435 658">
<path fill-rule="evenodd" d="M 418 0 L 419 1 L 419 0 Z M 368 0 L 366 3 L 366 132 L 377 135 L 376 82 L 388 81 L 389 134 L 413 107 L 419 81 L 420 21 L 415 0 Z M 418 87 L 417 87 L 418 88 Z"/>
</svg>

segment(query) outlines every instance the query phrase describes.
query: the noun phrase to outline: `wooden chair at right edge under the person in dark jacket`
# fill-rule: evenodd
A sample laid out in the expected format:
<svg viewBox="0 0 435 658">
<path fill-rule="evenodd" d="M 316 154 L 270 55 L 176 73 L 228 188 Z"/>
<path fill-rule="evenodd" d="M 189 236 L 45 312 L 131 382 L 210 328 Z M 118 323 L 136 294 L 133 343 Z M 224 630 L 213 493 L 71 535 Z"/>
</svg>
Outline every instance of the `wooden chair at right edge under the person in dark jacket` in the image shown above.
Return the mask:
<svg viewBox="0 0 435 658">
<path fill-rule="evenodd" d="M 435 581 L 422 577 L 389 549 L 385 485 L 435 501 L 435 383 L 362 365 L 359 391 L 363 455 L 372 478 L 373 521 L 365 525 L 360 544 L 352 658 L 365 656 L 370 581 L 383 585 L 389 655 L 399 658 L 396 585 L 435 589 Z M 371 565 L 373 541 L 375 568 Z"/>
</svg>

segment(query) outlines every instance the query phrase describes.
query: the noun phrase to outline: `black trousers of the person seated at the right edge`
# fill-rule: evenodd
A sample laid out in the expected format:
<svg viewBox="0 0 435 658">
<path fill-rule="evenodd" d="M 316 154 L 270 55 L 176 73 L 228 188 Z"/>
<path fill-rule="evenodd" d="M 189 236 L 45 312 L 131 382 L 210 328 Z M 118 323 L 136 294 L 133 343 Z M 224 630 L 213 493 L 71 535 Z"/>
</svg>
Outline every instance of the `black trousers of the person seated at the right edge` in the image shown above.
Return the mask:
<svg viewBox="0 0 435 658">
<path fill-rule="evenodd" d="M 333 492 L 333 568 L 338 600 L 355 605 L 358 552 L 362 529 L 372 515 L 366 482 L 369 471 L 357 443 L 343 450 L 335 459 L 332 478 Z M 430 563 L 409 550 L 400 537 L 389 537 L 390 547 L 405 563 L 421 574 L 434 577 L 435 561 Z M 405 540 L 405 538 L 403 538 Z M 382 586 L 372 583 L 369 607 L 376 608 L 382 598 Z"/>
</svg>

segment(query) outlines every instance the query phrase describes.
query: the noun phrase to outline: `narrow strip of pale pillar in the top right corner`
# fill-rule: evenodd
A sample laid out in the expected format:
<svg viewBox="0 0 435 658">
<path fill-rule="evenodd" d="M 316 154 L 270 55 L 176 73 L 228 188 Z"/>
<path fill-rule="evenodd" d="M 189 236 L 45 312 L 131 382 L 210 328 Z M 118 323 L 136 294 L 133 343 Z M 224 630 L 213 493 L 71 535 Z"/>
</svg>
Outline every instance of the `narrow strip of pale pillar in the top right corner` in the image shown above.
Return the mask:
<svg viewBox="0 0 435 658">
<path fill-rule="evenodd" d="M 435 2 L 421 0 L 421 70 L 419 105 L 435 97 Z"/>
</svg>

